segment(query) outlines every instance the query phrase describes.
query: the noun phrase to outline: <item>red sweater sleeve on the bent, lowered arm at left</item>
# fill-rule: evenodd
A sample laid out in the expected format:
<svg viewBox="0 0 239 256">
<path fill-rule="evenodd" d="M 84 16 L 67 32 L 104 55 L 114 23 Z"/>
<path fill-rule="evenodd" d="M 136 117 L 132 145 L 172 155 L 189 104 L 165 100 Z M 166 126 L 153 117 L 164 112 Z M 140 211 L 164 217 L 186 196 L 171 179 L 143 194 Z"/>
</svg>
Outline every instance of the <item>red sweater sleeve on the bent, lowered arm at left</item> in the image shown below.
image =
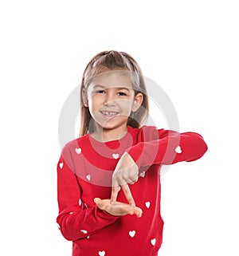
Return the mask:
<svg viewBox="0 0 239 256">
<path fill-rule="evenodd" d="M 83 209 L 84 204 L 80 198 L 80 184 L 70 149 L 66 144 L 57 163 L 57 224 L 61 234 L 70 241 L 86 238 L 119 218 L 100 210 L 97 206 Z"/>
</svg>

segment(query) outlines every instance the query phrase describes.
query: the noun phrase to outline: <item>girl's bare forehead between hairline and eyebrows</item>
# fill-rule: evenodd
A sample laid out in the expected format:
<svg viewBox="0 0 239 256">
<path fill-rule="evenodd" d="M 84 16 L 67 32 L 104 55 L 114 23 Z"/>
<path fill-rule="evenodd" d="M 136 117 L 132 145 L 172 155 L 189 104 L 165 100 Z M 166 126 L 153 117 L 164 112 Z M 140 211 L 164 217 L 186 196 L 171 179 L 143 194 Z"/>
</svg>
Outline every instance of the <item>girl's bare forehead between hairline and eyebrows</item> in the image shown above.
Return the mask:
<svg viewBox="0 0 239 256">
<path fill-rule="evenodd" d="M 104 88 L 125 87 L 133 89 L 129 73 L 122 70 L 114 70 L 96 75 L 89 84 L 89 87 L 96 87 L 96 85 L 104 86 Z"/>
</svg>

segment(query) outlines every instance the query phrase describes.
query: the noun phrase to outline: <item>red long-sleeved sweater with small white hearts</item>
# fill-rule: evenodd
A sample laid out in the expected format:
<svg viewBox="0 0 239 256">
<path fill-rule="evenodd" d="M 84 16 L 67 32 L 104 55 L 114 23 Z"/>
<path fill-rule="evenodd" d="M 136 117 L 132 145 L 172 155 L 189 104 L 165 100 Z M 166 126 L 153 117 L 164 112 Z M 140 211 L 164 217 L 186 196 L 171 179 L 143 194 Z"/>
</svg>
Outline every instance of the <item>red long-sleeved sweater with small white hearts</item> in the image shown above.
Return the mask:
<svg viewBox="0 0 239 256">
<path fill-rule="evenodd" d="M 73 243 L 73 256 L 156 256 L 162 244 L 160 215 L 160 167 L 194 161 L 207 150 L 198 133 L 178 133 L 127 127 L 120 140 L 99 142 L 89 134 L 70 141 L 57 164 L 59 215 L 63 236 Z M 140 177 L 129 185 L 141 218 L 112 216 L 96 207 L 93 199 L 110 199 L 112 173 L 128 152 L 139 167 Z M 123 191 L 117 201 L 127 203 Z"/>
</svg>

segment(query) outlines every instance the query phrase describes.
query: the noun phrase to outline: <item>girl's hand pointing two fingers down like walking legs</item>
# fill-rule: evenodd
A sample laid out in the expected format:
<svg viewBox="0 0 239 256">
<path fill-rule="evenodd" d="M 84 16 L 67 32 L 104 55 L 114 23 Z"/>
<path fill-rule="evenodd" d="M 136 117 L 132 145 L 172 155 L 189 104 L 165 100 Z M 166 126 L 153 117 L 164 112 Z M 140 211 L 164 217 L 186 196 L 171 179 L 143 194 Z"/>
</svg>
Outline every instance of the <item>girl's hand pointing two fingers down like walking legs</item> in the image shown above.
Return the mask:
<svg viewBox="0 0 239 256">
<path fill-rule="evenodd" d="M 119 159 L 116 169 L 112 175 L 112 198 L 111 203 L 116 203 L 119 193 L 119 186 L 122 187 L 123 193 L 128 203 L 135 207 L 135 201 L 127 184 L 134 184 L 139 178 L 139 167 L 131 156 L 125 152 Z"/>
</svg>

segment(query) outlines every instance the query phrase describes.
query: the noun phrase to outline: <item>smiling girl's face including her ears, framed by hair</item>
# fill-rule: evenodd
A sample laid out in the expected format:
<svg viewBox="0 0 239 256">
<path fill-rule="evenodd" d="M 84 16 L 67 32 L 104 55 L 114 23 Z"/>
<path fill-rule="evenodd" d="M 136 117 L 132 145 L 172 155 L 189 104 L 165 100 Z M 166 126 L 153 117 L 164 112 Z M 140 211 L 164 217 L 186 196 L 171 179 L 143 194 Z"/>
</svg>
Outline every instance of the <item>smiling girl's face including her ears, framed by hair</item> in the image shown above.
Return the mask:
<svg viewBox="0 0 239 256">
<path fill-rule="evenodd" d="M 83 92 L 85 106 L 101 128 L 126 128 L 127 118 L 143 101 L 143 94 L 135 91 L 128 75 L 113 71 L 96 76 Z"/>
</svg>

